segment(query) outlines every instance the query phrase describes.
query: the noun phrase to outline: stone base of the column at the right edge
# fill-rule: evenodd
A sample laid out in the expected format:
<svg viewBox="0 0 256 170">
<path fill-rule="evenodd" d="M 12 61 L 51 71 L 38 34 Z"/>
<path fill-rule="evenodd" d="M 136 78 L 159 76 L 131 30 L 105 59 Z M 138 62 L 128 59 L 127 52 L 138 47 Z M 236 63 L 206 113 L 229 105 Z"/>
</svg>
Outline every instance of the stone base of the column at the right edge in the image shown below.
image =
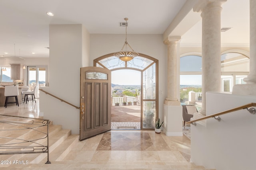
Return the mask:
<svg viewBox="0 0 256 170">
<path fill-rule="evenodd" d="M 232 94 L 256 96 L 256 84 L 236 84 L 233 86 Z"/>
</svg>

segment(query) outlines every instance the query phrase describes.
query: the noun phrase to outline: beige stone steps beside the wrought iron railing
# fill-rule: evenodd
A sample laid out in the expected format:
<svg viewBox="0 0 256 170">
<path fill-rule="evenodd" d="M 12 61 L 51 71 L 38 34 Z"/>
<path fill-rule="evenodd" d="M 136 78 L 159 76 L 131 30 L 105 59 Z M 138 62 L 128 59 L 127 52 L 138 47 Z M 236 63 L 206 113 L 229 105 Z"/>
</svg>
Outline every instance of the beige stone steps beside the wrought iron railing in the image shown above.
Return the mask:
<svg viewBox="0 0 256 170">
<path fill-rule="evenodd" d="M 11 127 L 13 129 L 17 127 Z M 44 127 L 46 129 L 46 127 Z M 8 131 L 3 131 L 1 136 L 4 136 Z M 17 139 L 26 139 L 28 136 L 35 136 L 35 131 L 28 130 L 24 134 L 16 135 Z M 79 135 L 72 135 L 71 130 L 62 129 L 61 125 L 52 125 L 52 122 L 49 126 L 49 160 L 50 162 L 62 161 L 63 158 L 73 149 L 78 143 Z M 14 141 L 14 140 L 12 140 Z M 4 140 L 0 141 L 0 143 L 4 143 Z M 11 143 L 11 141 L 9 141 Z M 43 141 L 46 143 L 46 139 Z M 6 167 L 9 168 L 18 168 L 18 167 L 27 167 L 24 164 L 29 164 L 33 167 L 40 167 L 47 162 L 47 153 L 32 153 L 32 154 L 6 154 L 0 155 L 0 160 L 2 164 L 0 164 L 1 169 Z M 1 162 L 0 162 L 1 163 Z M 45 164 L 46 165 L 46 164 Z"/>
</svg>

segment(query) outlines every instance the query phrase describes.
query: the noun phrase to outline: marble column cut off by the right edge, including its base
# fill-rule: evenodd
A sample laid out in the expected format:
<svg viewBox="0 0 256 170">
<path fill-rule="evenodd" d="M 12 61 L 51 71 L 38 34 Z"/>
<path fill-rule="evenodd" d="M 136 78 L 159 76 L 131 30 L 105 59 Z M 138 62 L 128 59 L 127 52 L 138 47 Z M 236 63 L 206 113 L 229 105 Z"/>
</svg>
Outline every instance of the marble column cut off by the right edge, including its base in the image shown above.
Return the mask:
<svg viewBox="0 0 256 170">
<path fill-rule="evenodd" d="M 247 84 L 233 86 L 232 94 L 256 96 L 256 1 L 250 0 L 250 73 L 244 78 Z"/>
</svg>

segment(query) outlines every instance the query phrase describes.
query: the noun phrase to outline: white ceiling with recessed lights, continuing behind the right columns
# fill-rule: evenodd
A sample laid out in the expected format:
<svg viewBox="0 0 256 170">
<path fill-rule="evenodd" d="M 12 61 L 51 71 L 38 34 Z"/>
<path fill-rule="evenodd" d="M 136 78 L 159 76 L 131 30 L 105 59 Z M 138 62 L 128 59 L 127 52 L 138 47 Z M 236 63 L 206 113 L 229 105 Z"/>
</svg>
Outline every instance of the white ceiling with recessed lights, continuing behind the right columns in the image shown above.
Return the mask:
<svg viewBox="0 0 256 170">
<path fill-rule="evenodd" d="M 186 0 L 0 0 L 0 55 L 49 57 L 50 24 L 83 24 L 90 33 L 163 34 Z M 222 6 L 224 44 L 249 44 L 249 0 Z M 53 12 L 54 16 L 46 15 Z M 183 45 L 200 45 L 201 25 L 183 36 Z M 15 53 L 14 53 L 15 44 Z M 5 54 L 8 53 L 8 54 Z M 35 54 L 32 54 L 35 53 Z"/>
</svg>

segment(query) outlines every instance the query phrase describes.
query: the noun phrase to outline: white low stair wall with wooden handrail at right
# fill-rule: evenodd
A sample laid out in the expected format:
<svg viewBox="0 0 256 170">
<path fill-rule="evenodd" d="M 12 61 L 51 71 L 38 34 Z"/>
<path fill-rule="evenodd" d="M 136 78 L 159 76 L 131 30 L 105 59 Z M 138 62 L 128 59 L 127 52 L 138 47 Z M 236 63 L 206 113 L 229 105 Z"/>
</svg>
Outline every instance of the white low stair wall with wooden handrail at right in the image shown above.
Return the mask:
<svg viewBox="0 0 256 170">
<path fill-rule="evenodd" d="M 206 115 L 252 102 L 256 102 L 255 96 L 207 92 Z M 242 109 L 220 115 L 220 118 L 220 121 L 207 119 L 206 125 L 200 122 L 191 125 L 192 162 L 217 170 L 254 170 L 256 114 Z"/>
</svg>

